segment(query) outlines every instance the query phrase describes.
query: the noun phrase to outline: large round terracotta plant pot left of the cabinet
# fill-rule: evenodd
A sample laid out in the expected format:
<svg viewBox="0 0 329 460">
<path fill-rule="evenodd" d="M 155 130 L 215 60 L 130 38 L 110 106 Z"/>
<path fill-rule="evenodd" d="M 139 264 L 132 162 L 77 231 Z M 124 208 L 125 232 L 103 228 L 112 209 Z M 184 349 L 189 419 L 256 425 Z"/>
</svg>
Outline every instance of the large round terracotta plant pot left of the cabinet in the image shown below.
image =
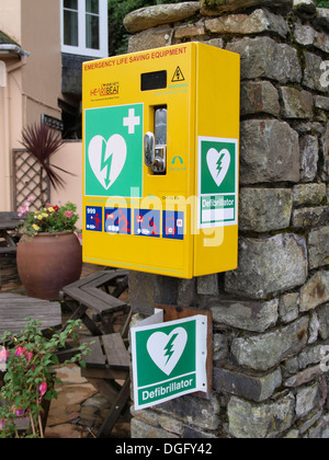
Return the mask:
<svg viewBox="0 0 329 460">
<path fill-rule="evenodd" d="M 22 237 L 16 263 L 27 296 L 58 300 L 60 289 L 80 278 L 82 248 L 71 231 Z"/>
</svg>

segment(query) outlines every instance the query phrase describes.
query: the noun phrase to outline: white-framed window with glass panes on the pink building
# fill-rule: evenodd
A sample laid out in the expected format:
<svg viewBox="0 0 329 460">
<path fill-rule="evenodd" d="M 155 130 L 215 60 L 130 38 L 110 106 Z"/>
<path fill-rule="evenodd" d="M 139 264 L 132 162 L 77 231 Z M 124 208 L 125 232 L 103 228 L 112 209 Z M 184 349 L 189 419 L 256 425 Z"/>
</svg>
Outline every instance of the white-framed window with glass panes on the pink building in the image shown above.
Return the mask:
<svg viewBox="0 0 329 460">
<path fill-rule="evenodd" d="M 61 50 L 107 57 L 107 0 L 60 0 Z"/>
</svg>

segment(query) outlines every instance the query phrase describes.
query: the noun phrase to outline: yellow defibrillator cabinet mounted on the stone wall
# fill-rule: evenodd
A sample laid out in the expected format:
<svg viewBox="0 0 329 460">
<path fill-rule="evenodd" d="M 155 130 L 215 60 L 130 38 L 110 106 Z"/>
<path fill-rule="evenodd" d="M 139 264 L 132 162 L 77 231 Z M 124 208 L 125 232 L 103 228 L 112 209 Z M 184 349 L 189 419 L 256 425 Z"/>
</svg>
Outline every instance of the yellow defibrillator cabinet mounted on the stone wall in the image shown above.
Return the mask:
<svg viewBox="0 0 329 460">
<path fill-rule="evenodd" d="M 83 64 L 83 261 L 237 267 L 239 56 L 186 43 Z"/>
</svg>

